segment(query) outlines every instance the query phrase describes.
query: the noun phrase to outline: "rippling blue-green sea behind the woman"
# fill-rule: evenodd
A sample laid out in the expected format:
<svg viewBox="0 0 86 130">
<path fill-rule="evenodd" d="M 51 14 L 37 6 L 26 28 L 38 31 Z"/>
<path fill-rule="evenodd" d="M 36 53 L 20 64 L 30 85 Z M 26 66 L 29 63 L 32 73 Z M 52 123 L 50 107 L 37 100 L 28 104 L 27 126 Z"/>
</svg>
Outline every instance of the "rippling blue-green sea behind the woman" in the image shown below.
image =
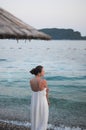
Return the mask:
<svg viewBox="0 0 86 130">
<path fill-rule="evenodd" d="M 29 81 L 34 76 L 29 71 L 37 65 L 44 67 L 49 87 L 48 127 L 86 129 L 86 41 L 82 40 L 0 40 L 0 120 L 31 125 Z"/>
</svg>

